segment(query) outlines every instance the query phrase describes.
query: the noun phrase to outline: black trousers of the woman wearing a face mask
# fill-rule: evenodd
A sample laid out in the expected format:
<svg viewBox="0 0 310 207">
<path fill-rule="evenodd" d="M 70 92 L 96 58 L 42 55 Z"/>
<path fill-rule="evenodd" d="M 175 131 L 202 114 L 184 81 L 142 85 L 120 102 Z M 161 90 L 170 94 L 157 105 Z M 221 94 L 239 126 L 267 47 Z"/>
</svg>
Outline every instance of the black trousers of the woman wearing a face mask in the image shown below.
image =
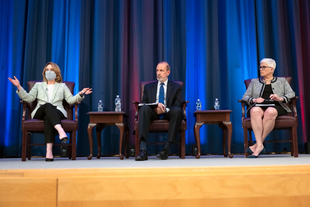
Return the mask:
<svg viewBox="0 0 310 207">
<path fill-rule="evenodd" d="M 44 120 L 44 142 L 54 143 L 55 135 L 58 131 L 54 128 L 55 125 L 61 124 L 61 119 L 67 119 L 64 114 L 56 109 L 50 103 L 43 104 L 40 106 L 33 116 L 33 119 L 43 119 Z"/>
</svg>

